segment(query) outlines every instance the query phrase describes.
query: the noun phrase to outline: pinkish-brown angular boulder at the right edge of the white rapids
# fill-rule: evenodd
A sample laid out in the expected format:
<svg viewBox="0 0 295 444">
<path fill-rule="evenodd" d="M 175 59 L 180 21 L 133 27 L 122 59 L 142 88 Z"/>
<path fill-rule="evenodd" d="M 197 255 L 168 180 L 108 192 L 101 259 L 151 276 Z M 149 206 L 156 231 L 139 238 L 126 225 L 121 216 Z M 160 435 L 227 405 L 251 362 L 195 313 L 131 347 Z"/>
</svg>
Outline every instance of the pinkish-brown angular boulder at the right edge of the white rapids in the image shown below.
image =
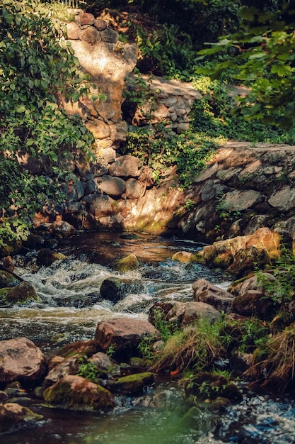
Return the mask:
<svg viewBox="0 0 295 444">
<path fill-rule="evenodd" d="M 234 299 L 231 293 L 215 287 L 203 278 L 194 282 L 192 289 L 194 291 L 194 301 L 212 305 L 219 312 L 231 313 Z"/>
</svg>

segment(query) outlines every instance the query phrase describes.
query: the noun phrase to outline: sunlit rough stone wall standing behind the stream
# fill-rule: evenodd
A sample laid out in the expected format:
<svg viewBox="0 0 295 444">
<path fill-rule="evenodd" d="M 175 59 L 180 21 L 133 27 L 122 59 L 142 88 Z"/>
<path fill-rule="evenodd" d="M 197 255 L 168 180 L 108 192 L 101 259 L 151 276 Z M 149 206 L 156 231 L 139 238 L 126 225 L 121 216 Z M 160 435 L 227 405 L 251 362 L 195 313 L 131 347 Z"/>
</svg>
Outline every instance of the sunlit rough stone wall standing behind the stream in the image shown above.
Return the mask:
<svg viewBox="0 0 295 444">
<path fill-rule="evenodd" d="M 66 200 L 45 206 L 36 225 L 62 218 L 75 228 L 177 232 L 211 241 L 279 224 L 295 238 L 294 147 L 229 143 L 219 148 L 190 189 L 178 189 L 173 171 L 155 187 L 149 168 L 140 167 L 137 157 L 120 155 L 128 124 L 144 124 L 149 112 L 148 104 L 132 108 L 123 94 L 139 87 L 131 74 L 137 47 L 121 43 L 106 21 L 89 13 L 79 13 L 68 25 L 67 38 L 107 99 L 78 106 L 63 101 L 66 110 L 79 112 L 93 132 L 96 162 L 86 162 L 79 152 L 59 161 L 71 172 L 69 182 L 62 184 Z M 178 133 L 187 129 L 199 93 L 176 80 L 156 78 L 149 84 L 144 79 L 155 96 L 151 123 L 164 123 Z"/>
</svg>

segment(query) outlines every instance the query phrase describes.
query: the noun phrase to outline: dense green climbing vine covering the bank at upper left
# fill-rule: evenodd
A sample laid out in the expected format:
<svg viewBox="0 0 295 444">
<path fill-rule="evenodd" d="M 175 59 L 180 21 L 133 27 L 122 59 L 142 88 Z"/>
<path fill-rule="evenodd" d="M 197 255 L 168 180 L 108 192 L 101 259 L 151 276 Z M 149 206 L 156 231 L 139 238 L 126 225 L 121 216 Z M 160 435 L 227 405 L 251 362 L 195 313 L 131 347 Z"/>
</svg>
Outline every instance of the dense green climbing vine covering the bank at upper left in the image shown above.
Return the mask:
<svg viewBox="0 0 295 444">
<path fill-rule="evenodd" d="M 25 238 L 29 216 L 57 198 L 48 162 L 71 148 L 90 152 L 93 143 L 81 119 L 59 109 L 60 93 L 76 101 L 91 84 L 48 14 L 35 0 L 0 8 L 0 245 Z M 44 175 L 30 174 L 19 155 L 35 157 Z"/>
</svg>

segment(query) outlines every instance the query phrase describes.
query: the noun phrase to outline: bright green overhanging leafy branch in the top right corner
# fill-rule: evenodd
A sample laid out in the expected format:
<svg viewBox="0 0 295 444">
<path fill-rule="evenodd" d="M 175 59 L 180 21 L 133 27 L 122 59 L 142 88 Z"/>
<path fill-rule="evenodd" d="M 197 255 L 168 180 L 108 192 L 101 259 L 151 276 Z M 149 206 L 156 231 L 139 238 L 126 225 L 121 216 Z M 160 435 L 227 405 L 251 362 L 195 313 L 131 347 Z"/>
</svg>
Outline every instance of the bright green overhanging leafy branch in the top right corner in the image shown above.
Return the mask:
<svg viewBox="0 0 295 444">
<path fill-rule="evenodd" d="M 283 1 L 282 8 L 275 12 L 242 9 L 238 32 L 199 52 L 203 60 L 216 54 L 231 57 L 217 63 L 213 70 L 197 70 L 213 79 L 231 70 L 238 82 L 250 86 L 242 99 L 244 115 L 285 128 L 292 126 L 295 111 L 294 14 L 289 1 Z"/>
</svg>

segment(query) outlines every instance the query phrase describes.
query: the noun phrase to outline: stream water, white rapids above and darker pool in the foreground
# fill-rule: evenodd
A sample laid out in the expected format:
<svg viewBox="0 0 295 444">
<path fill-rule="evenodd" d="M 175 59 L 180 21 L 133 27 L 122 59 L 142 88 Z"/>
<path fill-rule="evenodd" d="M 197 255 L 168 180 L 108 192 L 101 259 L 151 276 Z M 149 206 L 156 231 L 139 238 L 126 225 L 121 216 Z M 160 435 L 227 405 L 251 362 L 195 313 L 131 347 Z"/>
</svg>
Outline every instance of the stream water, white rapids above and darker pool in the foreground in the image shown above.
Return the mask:
<svg viewBox="0 0 295 444">
<path fill-rule="evenodd" d="M 50 267 L 35 265 L 36 252 L 16 257 L 16 274 L 30 281 L 41 301 L 27 306 L 0 308 L 2 339 L 25 336 L 50 355 L 62 345 L 93 339 L 98 321 L 113 316 L 147 319 L 156 301 L 192 300 L 192 282 L 200 277 L 219 287 L 229 277 L 218 270 L 171 260 L 177 251 L 196 252 L 203 245 L 189 240 L 137 235 L 80 233 L 63 240 L 59 251 L 66 259 Z M 113 263 L 134 253 L 139 268 L 120 274 Z M 122 300 L 101 299 L 104 279 L 122 279 Z M 123 297 L 124 296 L 124 297 Z M 295 443 L 295 405 L 287 399 L 245 396 L 223 416 L 207 408 L 189 410 L 176 382 L 157 384 L 139 398 L 118 398 L 111 414 L 48 409 L 36 404 L 44 415 L 38 428 L 5 435 L 7 444 L 204 444 L 204 443 Z"/>
</svg>

